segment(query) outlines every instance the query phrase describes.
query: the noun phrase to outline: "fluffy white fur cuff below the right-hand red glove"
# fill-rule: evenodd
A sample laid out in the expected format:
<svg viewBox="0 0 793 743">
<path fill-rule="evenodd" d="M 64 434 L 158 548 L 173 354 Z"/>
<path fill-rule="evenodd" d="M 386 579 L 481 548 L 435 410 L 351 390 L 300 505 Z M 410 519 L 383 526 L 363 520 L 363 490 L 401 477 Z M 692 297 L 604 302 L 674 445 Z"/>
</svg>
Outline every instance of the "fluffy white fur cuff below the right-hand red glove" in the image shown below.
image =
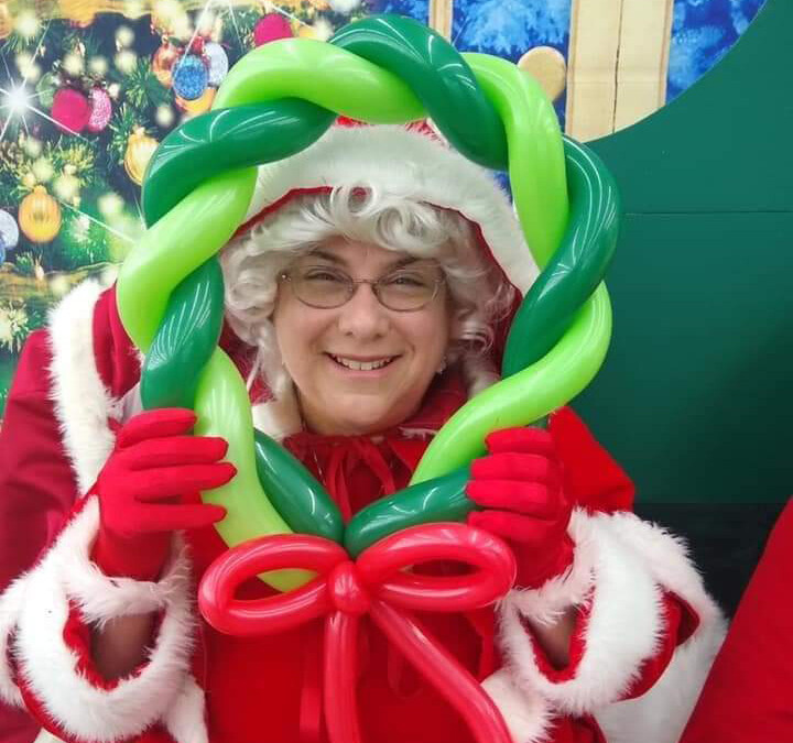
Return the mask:
<svg viewBox="0 0 793 743">
<path fill-rule="evenodd" d="M 576 544 L 569 573 L 537 590 L 512 591 L 500 608 L 501 642 L 517 682 L 571 714 L 591 713 L 620 699 L 642 662 L 656 652 L 664 629 L 663 589 L 643 555 L 615 533 L 613 518 L 576 511 L 569 527 Z M 667 549 L 665 559 L 674 561 L 675 555 Z M 681 596 L 688 600 L 689 593 Z M 587 610 L 583 647 L 571 673 L 552 680 L 541 669 L 522 620 L 550 622 L 569 605 Z"/>
</svg>

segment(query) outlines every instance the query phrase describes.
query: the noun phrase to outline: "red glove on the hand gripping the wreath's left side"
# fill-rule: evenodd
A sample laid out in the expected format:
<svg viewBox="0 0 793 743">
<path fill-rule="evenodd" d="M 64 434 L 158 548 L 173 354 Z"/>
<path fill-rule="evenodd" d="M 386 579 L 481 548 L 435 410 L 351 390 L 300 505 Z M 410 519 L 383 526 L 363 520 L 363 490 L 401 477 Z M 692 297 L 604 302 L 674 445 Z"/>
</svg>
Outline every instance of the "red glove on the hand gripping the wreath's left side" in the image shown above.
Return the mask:
<svg viewBox="0 0 793 743">
<path fill-rule="evenodd" d="M 237 472 L 218 461 L 228 449 L 224 439 L 186 435 L 195 422 L 193 411 L 163 408 L 141 413 L 119 430 L 91 490 L 100 513 L 93 559 L 106 575 L 156 580 L 172 532 L 208 526 L 226 515 L 219 505 L 182 502 Z"/>
</svg>

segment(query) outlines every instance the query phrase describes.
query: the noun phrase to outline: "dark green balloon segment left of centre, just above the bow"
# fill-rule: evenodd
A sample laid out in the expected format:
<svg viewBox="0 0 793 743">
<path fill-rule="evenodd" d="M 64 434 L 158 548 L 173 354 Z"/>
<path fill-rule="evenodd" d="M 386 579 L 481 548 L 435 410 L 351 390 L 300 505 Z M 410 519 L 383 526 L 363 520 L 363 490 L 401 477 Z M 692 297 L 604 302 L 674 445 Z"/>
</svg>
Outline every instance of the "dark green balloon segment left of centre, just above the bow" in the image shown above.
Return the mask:
<svg viewBox="0 0 793 743">
<path fill-rule="evenodd" d="M 253 436 L 259 482 L 289 527 L 340 543 L 344 520 L 325 488 L 280 444 L 260 430 Z"/>
</svg>

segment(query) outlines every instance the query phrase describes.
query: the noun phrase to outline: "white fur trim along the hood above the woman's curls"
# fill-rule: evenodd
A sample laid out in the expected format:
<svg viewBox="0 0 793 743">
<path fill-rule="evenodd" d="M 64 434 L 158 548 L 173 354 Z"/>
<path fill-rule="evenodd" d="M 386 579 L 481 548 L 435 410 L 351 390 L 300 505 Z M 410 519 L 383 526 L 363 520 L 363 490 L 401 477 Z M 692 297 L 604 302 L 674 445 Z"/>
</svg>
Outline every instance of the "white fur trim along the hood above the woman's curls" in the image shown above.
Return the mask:
<svg viewBox="0 0 793 743">
<path fill-rule="evenodd" d="M 459 211 L 479 225 L 493 258 L 521 294 L 534 283 L 536 265 L 492 175 L 404 127 L 332 127 L 298 154 L 261 165 L 245 221 L 296 188 L 361 184 Z"/>
</svg>

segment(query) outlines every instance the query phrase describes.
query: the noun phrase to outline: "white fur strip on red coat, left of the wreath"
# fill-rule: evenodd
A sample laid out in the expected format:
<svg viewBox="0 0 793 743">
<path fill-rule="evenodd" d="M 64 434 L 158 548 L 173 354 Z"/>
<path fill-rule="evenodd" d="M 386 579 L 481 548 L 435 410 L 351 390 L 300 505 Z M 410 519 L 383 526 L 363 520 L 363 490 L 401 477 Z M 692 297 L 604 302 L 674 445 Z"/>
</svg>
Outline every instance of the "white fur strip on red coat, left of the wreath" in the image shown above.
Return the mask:
<svg viewBox="0 0 793 743">
<path fill-rule="evenodd" d="M 80 493 L 90 488 L 113 447 L 108 417 L 121 409 L 105 389 L 94 356 L 94 307 L 102 287 L 95 281 L 76 286 L 50 316 L 55 415 Z"/>
</svg>

